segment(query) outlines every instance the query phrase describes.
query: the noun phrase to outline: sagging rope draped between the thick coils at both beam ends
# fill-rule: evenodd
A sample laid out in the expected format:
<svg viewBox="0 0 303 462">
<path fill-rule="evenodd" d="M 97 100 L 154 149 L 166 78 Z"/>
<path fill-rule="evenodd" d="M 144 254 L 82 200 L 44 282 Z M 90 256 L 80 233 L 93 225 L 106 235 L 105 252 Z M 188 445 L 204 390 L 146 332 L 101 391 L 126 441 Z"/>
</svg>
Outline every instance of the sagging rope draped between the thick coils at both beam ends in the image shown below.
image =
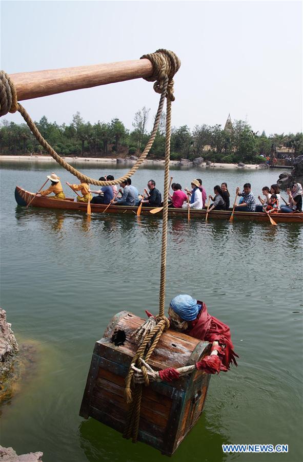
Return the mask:
<svg viewBox="0 0 303 462">
<path fill-rule="evenodd" d="M 175 55 L 173 51 L 169 51 L 169 50 L 159 49 L 155 53 L 147 54 L 142 58 L 149 59 L 154 66 L 153 76 L 151 78 L 147 78 L 147 80 L 150 80 L 150 81 L 156 80 L 154 84 L 154 89 L 157 93 L 161 93 L 161 97 L 160 97 L 159 106 L 158 106 L 158 110 L 157 110 L 157 114 L 156 114 L 156 118 L 154 122 L 154 127 L 152 130 L 150 139 L 145 147 L 145 150 L 140 155 L 140 157 L 138 158 L 136 163 L 133 165 L 131 170 L 126 175 L 124 175 L 123 177 L 117 178 L 116 180 L 99 181 L 94 178 L 90 178 L 89 176 L 84 175 L 83 173 L 79 172 L 77 169 L 72 167 L 72 165 L 66 162 L 62 157 L 60 157 L 55 152 L 55 150 L 48 144 L 48 142 L 43 138 L 41 133 L 39 133 L 35 123 L 30 118 L 26 109 L 17 102 L 17 94 L 16 94 L 14 83 L 4 71 L 1 71 L 1 76 L 0 76 L 1 77 L 0 78 L 0 85 L 1 85 L 1 88 L 0 88 L 0 116 L 3 116 L 7 114 L 8 112 L 16 112 L 16 110 L 18 110 L 19 113 L 23 116 L 24 120 L 26 121 L 27 125 L 30 128 L 30 131 L 32 132 L 32 134 L 34 135 L 38 143 L 44 147 L 44 149 L 48 152 L 48 154 L 56 162 L 58 162 L 62 167 L 64 167 L 72 175 L 77 177 L 80 181 L 85 181 L 89 184 L 94 184 L 95 186 L 113 186 L 114 184 L 119 184 L 120 182 L 125 181 L 126 179 L 130 178 L 138 170 L 138 168 L 143 163 L 143 161 L 146 159 L 153 145 L 154 139 L 158 131 L 160 118 L 161 118 L 161 114 L 163 111 L 164 98 L 167 96 L 167 94 L 169 94 L 170 97 L 174 99 L 173 97 L 173 76 L 180 67 L 179 59 L 177 58 L 177 56 Z"/>
</svg>

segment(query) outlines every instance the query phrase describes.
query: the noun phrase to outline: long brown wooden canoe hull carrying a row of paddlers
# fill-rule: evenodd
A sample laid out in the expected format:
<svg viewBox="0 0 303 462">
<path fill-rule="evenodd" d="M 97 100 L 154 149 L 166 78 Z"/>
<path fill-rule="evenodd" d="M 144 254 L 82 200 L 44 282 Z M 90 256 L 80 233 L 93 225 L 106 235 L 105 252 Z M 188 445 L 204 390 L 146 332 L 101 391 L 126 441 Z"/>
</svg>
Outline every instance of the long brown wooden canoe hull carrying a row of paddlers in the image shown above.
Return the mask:
<svg viewBox="0 0 303 462">
<path fill-rule="evenodd" d="M 35 193 L 26 191 L 19 186 L 15 189 L 15 199 L 19 206 L 26 206 L 31 199 L 33 199 Z M 87 210 L 87 204 L 84 202 L 74 202 L 73 198 L 66 198 L 65 200 L 52 199 L 51 197 L 36 196 L 31 202 L 31 207 L 41 207 L 45 209 L 60 209 L 60 210 L 78 210 L 85 212 Z M 92 213 L 102 213 L 107 208 L 106 205 L 91 204 Z M 142 207 L 141 213 L 144 215 L 150 215 L 151 207 Z M 110 206 L 106 213 L 130 213 L 136 214 L 137 207 L 130 206 Z M 214 210 L 209 212 L 208 219 L 219 218 L 228 220 L 231 215 L 230 210 Z M 187 209 L 174 209 L 169 208 L 168 213 L 170 216 L 184 216 L 187 218 Z M 154 214 L 153 216 L 161 216 L 161 212 Z M 191 218 L 205 219 L 206 209 L 190 211 Z M 265 213 L 259 212 L 234 212 L 234 217 L 241 220 L 252 220 L 252 221 L 266 221 L 269 223 L 269 218 Z M 301 223 L 303 224 L 303 213 L 275 213 L 273 219 L 277 223 Z"/>
</svg>

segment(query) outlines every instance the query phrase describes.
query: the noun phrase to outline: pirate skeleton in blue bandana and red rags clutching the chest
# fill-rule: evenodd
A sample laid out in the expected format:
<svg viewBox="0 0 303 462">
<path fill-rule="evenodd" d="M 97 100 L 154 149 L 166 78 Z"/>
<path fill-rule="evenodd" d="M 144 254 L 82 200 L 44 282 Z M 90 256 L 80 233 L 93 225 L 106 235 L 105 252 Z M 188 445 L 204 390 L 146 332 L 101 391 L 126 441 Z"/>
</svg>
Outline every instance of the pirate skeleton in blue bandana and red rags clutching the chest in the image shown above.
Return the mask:
<svg viewBox="0 0 303 462">
<path fill-rule="evenodd" d="M 168 314 L 170 328 L 172 330 L 181 331 L 195 339 L 213 344 L 212 355 L 205 357 L 206 368 L 204 370 L 207 373 L 215 374 L 220 371 L 226 372 L 229 370 L 231 364 L 237 366 L 236 358 L 238 358 L 238 355 L 233 349 L 234 346 L 231 341 L 229 326 L 219 321 L 214 316 L 209 315 L 207 306 L 204 302 L 195 300 L 190 295 L 180 294 L 171 300 Z M 150 320 L 153 316 L 149 312 L 147 312 L 147 315 L 149 316 L 149 321 L 146 322 L 146 326 L 147 330 L 149 330 L 152 328 L 152 322 Z M 147 324 L 148 322 L 149 326 Z M 140 326 L 141 332 L 144 331 L 144 326 L 145 325 Z M 212 357 L 215 356 L 214 350 L 216 350 L 217 358 Z M 132 368 L 136 372 L 134 375 L 135 381 L 139 383 L 140 381 L 142 382 L 143 372 L 133 366 Z M 167 379 L 169 379 L 169 374 L 166 374 L 166 378 L 164 378 L 165 374 L 162 374 L 162 372 L 167 371 L 167 369 L 160 371 L 160 374 L 153 371 L 150 367 L 147 369 L 148 376 L 152 380 L 167 381 Z M 170 368 L 170 371 L 177 373 L 175 369 L 172 371 L 172 368 Z"/>
</svg>

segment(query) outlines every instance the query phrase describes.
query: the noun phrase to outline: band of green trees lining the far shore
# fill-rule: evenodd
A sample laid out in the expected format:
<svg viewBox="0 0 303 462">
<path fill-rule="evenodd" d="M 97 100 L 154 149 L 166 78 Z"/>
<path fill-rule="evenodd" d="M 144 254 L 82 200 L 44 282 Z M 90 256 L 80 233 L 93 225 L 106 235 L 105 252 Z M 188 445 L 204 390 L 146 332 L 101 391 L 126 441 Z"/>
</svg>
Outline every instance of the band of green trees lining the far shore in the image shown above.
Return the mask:
<svg viewBox="0 0 303 462">
<path fill-rule="evenodd" d="M 147 130 L 149 109 L 143 107 L 134 117 L 133 130 L 129 132 L 118 118 L 110 122 L 85 122 L 77 112 L 70 124 L 58 125 L 43 116 L 35 122 L 44 138 L 60 155 L 108 156 L 111 152 L 142 152 L 149 139 Z M 150 154 L 155 158 L 165 155 L 165 114 L 156 134 Z M 173 127 L 171 137 L 171 159 L 179 160 L 204 157 L 212 162 L 245 163 L 264 162 L 260 154 L 269 155 L 272 145 L 279 149 L 288 147 L 294 155 L 303 154 L 303 134 L 274 134 L 265 132 L 257 136 L 243 120 L 233 122 L 232 132 L 225 132 L 221 125 L 196 125 L 193 131 L 187 125 Z M 30 133 L 27 124 L 16 124 L 6 119 L 0 124 L 0 153 L 27 154 L 45 153 Z"/>
</svg>

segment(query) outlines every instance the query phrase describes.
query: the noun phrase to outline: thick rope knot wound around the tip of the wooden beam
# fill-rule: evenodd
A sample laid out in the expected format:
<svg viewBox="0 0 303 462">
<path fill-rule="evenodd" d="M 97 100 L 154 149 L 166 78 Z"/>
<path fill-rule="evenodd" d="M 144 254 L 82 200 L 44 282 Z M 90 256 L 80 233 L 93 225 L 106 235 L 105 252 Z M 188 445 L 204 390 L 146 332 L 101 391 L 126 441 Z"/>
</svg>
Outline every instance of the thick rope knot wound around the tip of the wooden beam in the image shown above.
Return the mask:
<svg viewBox="0 0 303 462">
<path fill-rule="evenodd" d="M 168 80 L 167 98 L 174 101 L 173 77 L 181 65 L 177 55 L 173 51 L 160 48 L 155 53 L 144 54 L 140 59 L 148 59 L 154 68 L 153 75 L 145 80 L 155 82 L 154 90 L 156 93 L 163 91 L 164 84 Z"/>
</svg>

